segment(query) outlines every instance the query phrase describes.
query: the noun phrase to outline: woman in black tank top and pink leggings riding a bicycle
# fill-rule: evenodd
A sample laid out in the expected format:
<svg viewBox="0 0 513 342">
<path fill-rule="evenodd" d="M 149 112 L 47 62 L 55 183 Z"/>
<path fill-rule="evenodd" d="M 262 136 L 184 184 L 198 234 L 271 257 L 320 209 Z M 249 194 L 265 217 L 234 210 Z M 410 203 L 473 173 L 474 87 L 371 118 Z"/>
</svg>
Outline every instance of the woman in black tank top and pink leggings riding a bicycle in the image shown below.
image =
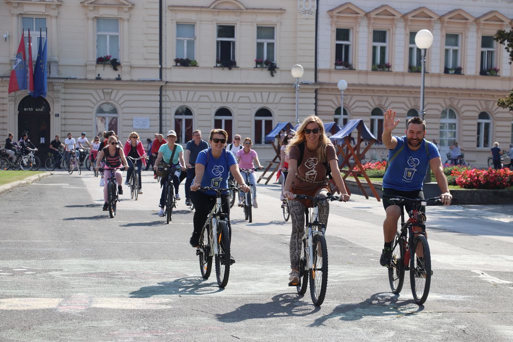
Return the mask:
<svg viewBox="0 0 513 342">
<path fill-rule="evenodd" d="M 109 139 L 107 140 L 107 146 L 104 147 L 100 153 L 98 153 L 98 157 L 96 158 L 96 170 L 100 168 L 100 163 L 102 162 L 103 158 L 105 157 L 105 166 L 109 169 L 119 168 L 121 164 L 123 163 L 125 170 L 128 169 L 128 163 L 127 159 L 125 158 L 125 153 L 123 153 L 123 149 L 119 146 L 117 146 L 117 138 L 115 135 L 111 135 Z M 121 186 L 121 183 L 123 182 L 123 176 L 121 174 L 120 170 L 114 171 L 114 176 L 116 177 L 117 182 L 117 193 L 120 195 L 123 195 L 123 187 Z M 104 205 L 103 210 L 107 211 L 109 210 L 109 204 L 108 201 L 108 191 L 107 191 L 107 182 L 104 182 L 105 185 L 103 187 L 103 199 L 104 199 Z"/>
</svg>

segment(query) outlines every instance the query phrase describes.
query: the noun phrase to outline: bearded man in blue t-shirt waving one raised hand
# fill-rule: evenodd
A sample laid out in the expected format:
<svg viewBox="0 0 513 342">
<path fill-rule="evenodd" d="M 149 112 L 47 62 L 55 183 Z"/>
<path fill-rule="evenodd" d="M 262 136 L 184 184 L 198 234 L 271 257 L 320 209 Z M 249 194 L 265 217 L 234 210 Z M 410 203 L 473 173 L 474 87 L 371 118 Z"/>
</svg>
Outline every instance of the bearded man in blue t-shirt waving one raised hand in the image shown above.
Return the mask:
<svg viewBox="0 0 513 342">
<path fill-rule="evenodd" d="M 450 205 L 452 195 L 449 192 L 447 178 L 443 172 L 442 159 L 435 144 L 428 142 L 426 123 L 418 116 L 408 120 L 406 135 L 392 136 L 392 130 L 397 127 L 396 111 L 388 109 L 383 120 L 383 144 L 390 150 L 388 168 L 383 177 L 383 207 L 386 218 L 383 222 L 385 244 L 380 257 L 381 266 L 389 266 L 392 257 L 392 243 L 397 233 L 397 223 L 401 217 L 402 207 L 392 204 L 387 195 L 424 199 L 422 186 L 428 166 L 435 174 L 438 186 L 442 191 L 442 202 Z M 455 142 L 452 148 L 458 147 Z M 407 211 L 408 208 L 405 205 Z M 427 237 L 427 236 L 426 236 Z"/>
</svg>

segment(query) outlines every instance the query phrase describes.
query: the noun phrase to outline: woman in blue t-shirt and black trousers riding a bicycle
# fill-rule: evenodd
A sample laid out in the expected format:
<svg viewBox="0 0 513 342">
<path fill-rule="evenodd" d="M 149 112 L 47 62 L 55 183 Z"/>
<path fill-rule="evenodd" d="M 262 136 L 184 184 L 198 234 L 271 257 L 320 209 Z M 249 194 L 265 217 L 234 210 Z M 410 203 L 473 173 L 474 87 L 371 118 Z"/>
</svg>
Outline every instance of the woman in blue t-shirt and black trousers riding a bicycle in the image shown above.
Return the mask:
<svg viewBox="0 0 513 342">
<path fill-rule="evenodd" d="M 244 184 L 244 179 L 239 172 L 239 165 L 235 160 L 233 153 L 225 150 L 228 133 L 223 129 L 213 129 L 210 131 L 210 148 L 198 153 L 196 158 L 196 175 L 191 185 L 191 200 L 194 204 L 194 231 L 189 240 L 192 247 L 200 245 L 200 235 L 207 216 L 215 203 L 215 192 L 196 191 L 201 187 L 228 188 L 228 175 L 231 172 L 242 191 L 248 192 L 249 187 Z M 228 215 L 228 228 L 230 226 L 230 200 L 229 194 L 223 196 L 223 212 Z"/>
</svg>

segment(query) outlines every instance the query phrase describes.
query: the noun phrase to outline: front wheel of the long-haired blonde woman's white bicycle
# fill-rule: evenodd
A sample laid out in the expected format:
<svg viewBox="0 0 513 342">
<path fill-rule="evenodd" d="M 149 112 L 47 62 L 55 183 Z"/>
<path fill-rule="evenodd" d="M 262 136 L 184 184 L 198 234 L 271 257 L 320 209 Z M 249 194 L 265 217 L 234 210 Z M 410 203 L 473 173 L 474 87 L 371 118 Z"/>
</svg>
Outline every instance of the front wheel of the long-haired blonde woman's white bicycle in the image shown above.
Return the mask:
<svg viewBox="0 0 513 342">
<path fill-rule="evenodd" d="M 309 272 L 310 295 L 313 305 L 321 306 L 328 285 L 328 246 L 322 234 L 313 235 L 312 262 L 313 267 Z"/>
</svg>

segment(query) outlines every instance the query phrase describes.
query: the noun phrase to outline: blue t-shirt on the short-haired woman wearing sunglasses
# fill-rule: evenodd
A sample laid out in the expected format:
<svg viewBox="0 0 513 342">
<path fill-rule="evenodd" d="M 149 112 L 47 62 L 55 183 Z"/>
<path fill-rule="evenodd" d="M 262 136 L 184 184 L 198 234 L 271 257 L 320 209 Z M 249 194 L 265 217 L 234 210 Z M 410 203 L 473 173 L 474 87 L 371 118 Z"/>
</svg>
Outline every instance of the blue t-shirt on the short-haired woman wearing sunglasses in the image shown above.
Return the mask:
<svg viewBox="0 0 513 342">
<path fill-rule="evenodd" d="M 206 149 L 198 153 L 196 164 L 205 166 L 205 173 L 201 180 L 202 187 L 212 188 L 228 188 L 228 175 L 230 174 L 230 166 L 237 164 L 233 153 L 223 149 L 219 158 L 214 158 L 212 149 Z M 192 180 L 192 183 L 199 183 Z M 206 191 L 208 195 L 215 195 L 213 191 Z"/>
</svg>

